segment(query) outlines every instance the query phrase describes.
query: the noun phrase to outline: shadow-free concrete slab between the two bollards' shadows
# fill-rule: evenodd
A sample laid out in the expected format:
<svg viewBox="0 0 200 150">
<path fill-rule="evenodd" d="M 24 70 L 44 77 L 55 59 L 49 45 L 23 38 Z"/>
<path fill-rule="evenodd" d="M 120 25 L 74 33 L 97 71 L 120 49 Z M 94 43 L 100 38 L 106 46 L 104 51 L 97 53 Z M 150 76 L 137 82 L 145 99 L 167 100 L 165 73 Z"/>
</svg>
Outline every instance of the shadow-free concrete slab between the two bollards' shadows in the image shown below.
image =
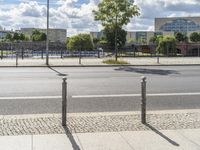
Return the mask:
<svg viewBox="0 0 200 150">
<path fill-rule="evenodd" d="M 119 133 L 79 133 L 77 134 L 84 150 L 133 150 Z"/>
</svg>

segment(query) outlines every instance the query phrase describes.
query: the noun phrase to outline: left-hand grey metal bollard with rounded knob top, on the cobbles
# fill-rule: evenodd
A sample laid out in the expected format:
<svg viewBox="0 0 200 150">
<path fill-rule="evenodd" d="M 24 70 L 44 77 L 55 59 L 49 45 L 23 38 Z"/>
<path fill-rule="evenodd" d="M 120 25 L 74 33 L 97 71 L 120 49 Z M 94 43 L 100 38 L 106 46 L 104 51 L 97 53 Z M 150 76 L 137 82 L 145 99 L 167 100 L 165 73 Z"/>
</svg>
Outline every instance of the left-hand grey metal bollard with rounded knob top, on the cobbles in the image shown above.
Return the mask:
<svg viewBox="0 0 200 150">
<path fill-rule="evenodd" d="M 67 78 L 63 78 L 62 83 L 62 126 L 66 126 L 67 122 Z"/>
</svg>

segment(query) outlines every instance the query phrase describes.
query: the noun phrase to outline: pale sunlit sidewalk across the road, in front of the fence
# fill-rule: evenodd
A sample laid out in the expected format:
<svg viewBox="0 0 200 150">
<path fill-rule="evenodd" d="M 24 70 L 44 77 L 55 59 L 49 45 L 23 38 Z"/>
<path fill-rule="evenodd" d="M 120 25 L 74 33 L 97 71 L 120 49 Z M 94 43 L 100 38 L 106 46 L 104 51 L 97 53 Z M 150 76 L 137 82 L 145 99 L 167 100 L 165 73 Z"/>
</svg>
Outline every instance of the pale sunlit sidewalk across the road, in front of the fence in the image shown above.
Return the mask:
<svg viewBox="0 0 200 150">
<path fill-rule="evenodd" d="M 82 58 L 81 64 L 79 64 L 79 58 L 50 58 L 50 66 L 116 66 L 107 65 L 102 63 L 103 60 L 110 59 L 106 58 Z M 156 57 L 136 57 L 136 58 L 119 58 L 119 60 L 125 60 L 129 65 L 140 66 L 140 65 L 200 65 L 200 57 L 160 57 L 159 64 L 157 63 Z M 18 59 L 18 66 L 31 66 L 31 67 L 45 67 L 45 59 Z M 0 67 L 16 67 L 16 59 L 3 59 L 0 60 Z"/>
</svg>

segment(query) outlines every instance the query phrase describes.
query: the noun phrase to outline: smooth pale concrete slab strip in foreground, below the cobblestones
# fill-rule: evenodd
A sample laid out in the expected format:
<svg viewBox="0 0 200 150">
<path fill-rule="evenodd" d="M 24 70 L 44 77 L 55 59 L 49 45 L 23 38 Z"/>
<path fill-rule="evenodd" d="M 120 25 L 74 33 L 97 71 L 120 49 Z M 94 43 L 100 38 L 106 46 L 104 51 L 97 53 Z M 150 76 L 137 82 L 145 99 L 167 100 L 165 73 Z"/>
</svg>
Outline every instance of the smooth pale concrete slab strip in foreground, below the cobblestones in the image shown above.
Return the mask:
<svg viewBox="0 0 200 150">
<path fill-rule="evenodd" d="M 1 150 L 199 150 L 200 129 L 0 137 Z"/>
</svg>

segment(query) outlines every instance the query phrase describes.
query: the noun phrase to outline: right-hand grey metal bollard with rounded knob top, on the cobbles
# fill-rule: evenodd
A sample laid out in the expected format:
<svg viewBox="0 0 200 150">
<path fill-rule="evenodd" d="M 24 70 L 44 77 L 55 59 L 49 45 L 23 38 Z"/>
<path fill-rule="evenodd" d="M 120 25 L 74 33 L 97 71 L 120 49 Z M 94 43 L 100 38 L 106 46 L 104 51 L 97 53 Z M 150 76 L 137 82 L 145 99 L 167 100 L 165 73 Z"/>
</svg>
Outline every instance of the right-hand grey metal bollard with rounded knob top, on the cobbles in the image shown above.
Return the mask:
<svg viewBox="0 0 200 150">
<path fill-rule="evenodd" d="M 141 121 L 146 123 L 146 77 L 141 80 Z"/>
</svg>

